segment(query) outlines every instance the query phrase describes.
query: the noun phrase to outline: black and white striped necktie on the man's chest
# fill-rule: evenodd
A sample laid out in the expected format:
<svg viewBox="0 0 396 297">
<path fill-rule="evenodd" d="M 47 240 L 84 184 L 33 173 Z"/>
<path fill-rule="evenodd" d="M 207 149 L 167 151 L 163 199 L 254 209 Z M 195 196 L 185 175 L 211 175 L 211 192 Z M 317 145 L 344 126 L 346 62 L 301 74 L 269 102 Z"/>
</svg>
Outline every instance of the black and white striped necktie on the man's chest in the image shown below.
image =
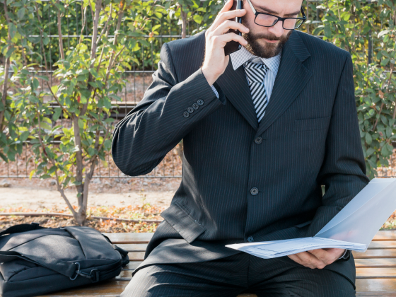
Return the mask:
<svg viewBox="0 0 396 297">
<path fill-rule="evenodd" d="M 245 63 L 245 74 L 248 76 L 250 93 L 252 94 L 253 104 L 257 120 L 260 123 L 264 117 L 265 107 L 268 105 L 267 91 L 264 87 L 264 77 L 267 74 L 268 67 L 266 64 L 257 64 L 254 62 Z"/>
</svg>

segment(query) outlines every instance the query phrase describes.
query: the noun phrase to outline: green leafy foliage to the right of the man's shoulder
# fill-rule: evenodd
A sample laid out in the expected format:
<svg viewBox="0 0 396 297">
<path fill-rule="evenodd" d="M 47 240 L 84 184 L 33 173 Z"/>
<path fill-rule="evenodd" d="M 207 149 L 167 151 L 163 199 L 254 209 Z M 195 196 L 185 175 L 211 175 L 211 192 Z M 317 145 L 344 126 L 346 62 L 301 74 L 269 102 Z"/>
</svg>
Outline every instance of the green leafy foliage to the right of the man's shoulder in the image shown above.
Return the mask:
<svg viewBox="0 0 396 297">
<path fill-rule="evenodd" d="M 344 48 L 354 62 L 356 106 L 367 175 L 390 165 L 395 136 L 395 1 L 326 1 L 314 35 Z M 371 52 L 371 49 L 373 52 Z M 368 59 L 371 63 L 368 63 Z"/>
</svg>

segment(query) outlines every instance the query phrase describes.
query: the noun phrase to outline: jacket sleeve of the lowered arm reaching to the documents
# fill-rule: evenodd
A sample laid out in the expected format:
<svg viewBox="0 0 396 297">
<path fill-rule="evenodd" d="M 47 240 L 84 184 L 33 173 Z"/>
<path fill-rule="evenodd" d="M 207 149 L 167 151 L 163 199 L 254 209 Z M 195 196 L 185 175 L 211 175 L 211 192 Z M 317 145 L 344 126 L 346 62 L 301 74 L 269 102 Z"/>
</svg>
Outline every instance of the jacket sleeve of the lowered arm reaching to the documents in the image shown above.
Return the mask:
<svg viewBox="0 0 396 297">
<path fill-rule="evenodd" d="M 306 236 L 318 233 L 368 182 L 356 111 L 353 64 L 351 54 L 347 53 L 327 132 L 325 159 L 318 175 L 318 184 L 325 185 L 325 194 Z"/>
</svg>

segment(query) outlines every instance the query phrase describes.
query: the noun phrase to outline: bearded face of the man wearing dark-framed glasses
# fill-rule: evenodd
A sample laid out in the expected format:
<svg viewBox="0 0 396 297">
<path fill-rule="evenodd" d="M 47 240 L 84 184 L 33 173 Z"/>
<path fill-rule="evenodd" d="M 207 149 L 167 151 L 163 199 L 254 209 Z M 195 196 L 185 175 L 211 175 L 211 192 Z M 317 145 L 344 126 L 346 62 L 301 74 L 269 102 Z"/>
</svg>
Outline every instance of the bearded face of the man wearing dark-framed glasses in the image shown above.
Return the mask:
<svg viewBox="0 0 396 297">
<path fill-rule="evenodd" d="M 298 17 L 296 11 L 300 11 L 302 0 L 250 0 L 257 12 L 271 13 L 281 17 Z M 282 22 L 278 21 L 272 27 L 262 27 L 255 23 L 255 14 L 247 0 L 243 0 L 243 8 L 246 10 L 242 23 L 249 28 L 249 33 L 242 36 L 248 41 L 246 49 L 257 57 L 274 57 L 281 51 L 289 39 L 293 30 L 285 30 Z"/>
</svg>

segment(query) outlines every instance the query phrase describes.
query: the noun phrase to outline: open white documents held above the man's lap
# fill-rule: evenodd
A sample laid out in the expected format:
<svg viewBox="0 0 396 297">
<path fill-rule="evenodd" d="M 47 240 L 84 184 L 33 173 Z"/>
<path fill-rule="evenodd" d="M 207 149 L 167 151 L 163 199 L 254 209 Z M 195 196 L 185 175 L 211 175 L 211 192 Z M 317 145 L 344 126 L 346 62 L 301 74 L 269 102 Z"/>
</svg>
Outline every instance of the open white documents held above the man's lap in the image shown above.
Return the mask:
<svg viewBox="0 0 396 297">
<path fill-rule="evenodd" d="M 374 178 L 314 237 L 240 243 L 228 248 L 264 259 L 316 250 L 342 248 L 365 252 L 396 209 L 396 178 Z"/>
</svg>

